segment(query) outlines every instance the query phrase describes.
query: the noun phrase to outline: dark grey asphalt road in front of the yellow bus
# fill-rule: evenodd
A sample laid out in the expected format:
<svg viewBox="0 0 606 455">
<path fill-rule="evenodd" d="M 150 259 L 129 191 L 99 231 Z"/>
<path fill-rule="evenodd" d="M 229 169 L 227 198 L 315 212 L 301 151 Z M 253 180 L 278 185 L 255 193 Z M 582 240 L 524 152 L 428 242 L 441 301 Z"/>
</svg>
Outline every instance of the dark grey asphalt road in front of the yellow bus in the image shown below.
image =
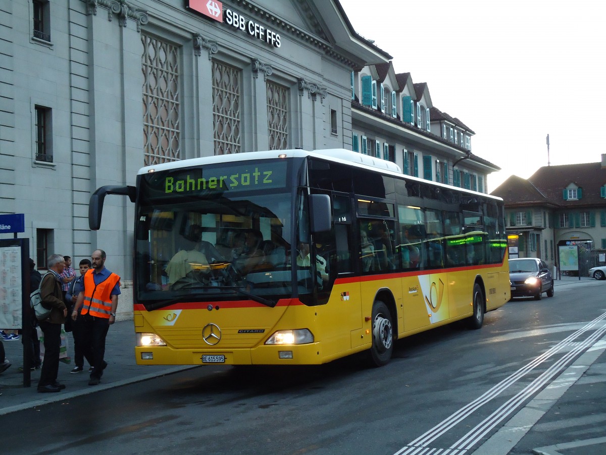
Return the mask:
<svg viewBox="0 0 606 455">
<path fill-rule="evenodd" d="M 582 374 L 579 356 L 604 349 L 605 290 L 605 281 L 559 286 L 553 298 L 488 313 L 481 330 L 453 324 L 400 340 L 383 368 L 367 368 L 362 356 L 319 367 L 194 368 L 25 409 L 0 416 L 2 451 L 530 454 L 565 431 L 526 425 L 533 403 L 564 393 L 566 375 Z M 585 439 L 605 436 L 603 401 L 566 400 L 585 416 Z"/>
</svg>

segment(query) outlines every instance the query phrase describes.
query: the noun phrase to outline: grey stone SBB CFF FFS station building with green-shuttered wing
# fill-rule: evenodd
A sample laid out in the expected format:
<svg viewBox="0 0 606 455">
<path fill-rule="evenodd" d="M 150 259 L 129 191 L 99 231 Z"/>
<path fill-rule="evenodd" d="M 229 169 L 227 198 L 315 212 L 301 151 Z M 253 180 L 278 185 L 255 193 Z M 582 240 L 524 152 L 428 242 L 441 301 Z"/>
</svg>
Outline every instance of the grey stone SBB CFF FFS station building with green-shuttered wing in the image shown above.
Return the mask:
<svg viewBox="0 0 606 455">
<path fill-rule="evenodd" d="M 38 268 L 101 248 L 132 279 L 133 204 L 108 197 L 90 231 L 88 200 L 149 164 L 342 147 L 481 191 L 499 170 L 336 0 L 13 0 L 0 17 L 0 213 L 25 214 Z"/>
</svg>

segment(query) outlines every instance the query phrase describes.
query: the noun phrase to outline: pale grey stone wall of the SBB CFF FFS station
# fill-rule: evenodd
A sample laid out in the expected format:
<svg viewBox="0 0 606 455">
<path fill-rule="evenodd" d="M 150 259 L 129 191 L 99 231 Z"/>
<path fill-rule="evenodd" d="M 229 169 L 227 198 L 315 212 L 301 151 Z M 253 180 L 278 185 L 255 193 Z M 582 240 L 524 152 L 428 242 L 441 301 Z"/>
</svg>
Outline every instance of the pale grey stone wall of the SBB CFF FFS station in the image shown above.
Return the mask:
<svg viewBox="0 0 606 455">
<path fill-rule="evenodd" d="M 32 37 L 31 1 L 4 2 L 0 12 L 7 25 L 0 31 L 0 212 L 25 214 L 21 236 L 30 239 L 32 257 L 36 230 L 48 229 L 49 254 L 70 255 L 77 264 L 102 248 L 108 268 L 132 278 L 133 204 L 106 198 L 99 231 L 90 231 L 87 216 L 96 188 L 135 184 L 144 165 L 142 36 L 178 48 L 179 158 L 215 153 L 213 59 L 242 70 L 242 150 L 268 148 L 266 79 L 289 90 L 287 148 L 351 148 L 348 84 L 361 62 L 315 38 L 321 21 L 308 23 L 304 2 L 280 5 L 275 14 L 289 23 L 267 19 L 273 2 L 261 2 L 258 14 L 246 2 L 224 2 L 278 32 L 280 47 L 191 13 L 182 0 L 49 5 L 50 42 Z M 52 163 L 35 160 L 36 105 L 52 112 Z"/>
</svg>

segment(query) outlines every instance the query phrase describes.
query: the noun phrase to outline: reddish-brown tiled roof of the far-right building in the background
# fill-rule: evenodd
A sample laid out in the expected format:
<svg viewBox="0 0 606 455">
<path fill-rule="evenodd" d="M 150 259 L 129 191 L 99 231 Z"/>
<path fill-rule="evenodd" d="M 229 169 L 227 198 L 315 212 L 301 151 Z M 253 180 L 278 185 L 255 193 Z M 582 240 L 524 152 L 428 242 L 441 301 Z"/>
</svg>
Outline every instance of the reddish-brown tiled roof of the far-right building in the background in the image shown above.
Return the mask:
<svg viewBox="0 0 606 455">
<path fill-rule="evenodd" d="M 570 183 L 582 188 L 580 200 L 564 200 L 564 189 Z M 601 163 L 562 164 L 540 167 L 528 180 L 512 175 L 491 194 L 502 197 L 508 204 L 606 207 L 606 200 L 600 196 L 600 187 L 604 184 L 606 167 Z"/>
</svg>

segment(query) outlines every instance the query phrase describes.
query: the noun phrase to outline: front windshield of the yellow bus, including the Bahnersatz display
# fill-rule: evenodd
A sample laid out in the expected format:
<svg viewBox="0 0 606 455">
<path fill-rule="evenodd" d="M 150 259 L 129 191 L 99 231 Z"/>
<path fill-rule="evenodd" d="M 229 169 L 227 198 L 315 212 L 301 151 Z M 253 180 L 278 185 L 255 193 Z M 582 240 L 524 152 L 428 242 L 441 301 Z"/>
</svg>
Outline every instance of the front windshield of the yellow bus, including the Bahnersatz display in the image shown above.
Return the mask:
<svg viewBox="0 0 606 455">
<path fill-rule="evenodd" d="M 290 297 L 292 196 L 286 171 L 285 162 L 224 163 L 142 176 L 136 301 L 149 309 L 242 299 L 274 306 Z M 255 174 L 261 176 L 256 183 Z"/>
</svg>

